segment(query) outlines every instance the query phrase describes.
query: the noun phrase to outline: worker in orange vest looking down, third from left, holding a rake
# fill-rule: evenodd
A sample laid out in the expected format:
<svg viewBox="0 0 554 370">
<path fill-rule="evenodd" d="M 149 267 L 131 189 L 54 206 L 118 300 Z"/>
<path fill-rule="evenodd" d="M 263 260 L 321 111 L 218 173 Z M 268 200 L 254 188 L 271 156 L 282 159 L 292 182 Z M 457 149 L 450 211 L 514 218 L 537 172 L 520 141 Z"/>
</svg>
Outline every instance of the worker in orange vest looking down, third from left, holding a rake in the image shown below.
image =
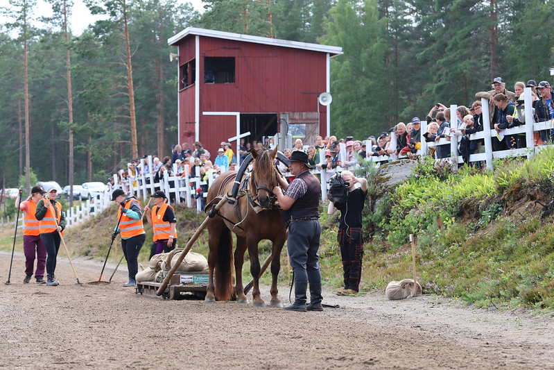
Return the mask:
<svg viewBox="0 0 554 370">
<path fill-rule="evenodd" d="M 120 205 L 119 210 L 117 210 L 117 219 L 121 219 L 121 221 L 119 222 L 119 230 L 115 231 L 121 231 L 121 248 L 125 260 L 127 260 L 129 271 L 129 280 L 123 284 L 123 287 L 136 287 L 137 280 L 135 280 L 135 276 L 139 271 L 137 258 L 146 239 L 142 224 L 141 203 L 135 196 L 125 196 L 125 192 L 121 189 L 114 190 L 112 201 Z"/>
</svg>

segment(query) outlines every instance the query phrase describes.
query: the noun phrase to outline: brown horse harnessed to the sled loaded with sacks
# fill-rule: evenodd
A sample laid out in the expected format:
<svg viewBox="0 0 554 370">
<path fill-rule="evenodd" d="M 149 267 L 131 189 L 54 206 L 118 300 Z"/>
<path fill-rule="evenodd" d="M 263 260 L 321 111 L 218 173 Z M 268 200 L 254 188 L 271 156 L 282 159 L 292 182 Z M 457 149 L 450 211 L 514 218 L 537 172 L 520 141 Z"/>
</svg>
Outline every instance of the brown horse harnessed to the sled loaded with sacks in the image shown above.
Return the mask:
<svg viewBox="0 0 554 370">
<path fill-rule="evenodd" d="M 208 243 L 209 243 L 209 283 L 207 287 L 206 302 L 226 301 L 232 298 L 232 262 L 233 239 L 231 232 L 236 235 L 236 250 L 234 252 L 234 269 L 236 284 L 234 295 L 236 301 L 248 303 L 244 294 L 242 268 L 244 253 L 248 248 L 250 255 L 250 274 L 254 280 L 252 300 L 255 307 L 263 307 L 265 303 L 260 297 L 259 275 L 260 262 L 258 258 L 258 243 L 261 239 L 269 239 L 272 242 L 271 250 L 271 301 L 270 305 L 282 307 L 281 300 L 277 296 L 277 275 L 281 268 L 279 257 L 286 240 L 286 226 L 281 211 L 273 206 L 273 193 L 271 190 L 277 186 L 277 172 L 275 167 L 275 155 L 273 151 L 252 151 L 254 162 L 252 172 L 248 176 L 248 189 L 244 196 L 237 197 L 236 203 L 225 203 L 218 215 L 209 219 Z M 235 171 L 227 171 L 216 178 L 211 185 L 206 200 L 206 210 L 214 207 L 225 194 L 230 194 L 236 176 Z M 246 176 L 243 176 L 243 180 Z M 237 179 L 240 180 L 240 179 Z M 252 203 L 257 203 L 256 212 Z M 261 208 L 261 210 L 259 210 Z M 215 269 L 215 289 L 214 289 Z"/>
</svg>

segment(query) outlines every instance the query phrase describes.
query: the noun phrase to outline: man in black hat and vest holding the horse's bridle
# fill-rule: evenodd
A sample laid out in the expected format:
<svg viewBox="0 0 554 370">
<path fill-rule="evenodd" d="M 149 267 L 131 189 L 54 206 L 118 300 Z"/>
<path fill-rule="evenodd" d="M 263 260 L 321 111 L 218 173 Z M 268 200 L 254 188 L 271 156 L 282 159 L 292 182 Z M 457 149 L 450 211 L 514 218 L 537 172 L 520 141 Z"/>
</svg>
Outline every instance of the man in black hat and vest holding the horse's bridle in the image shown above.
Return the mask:
<svg viewBox="0 0 554 370">
<path fill-rule="evenodd" d="M 320 247 L 321 226 L 319 203 L 321 186 L 318 178 L 309 169 L 308 155 L 303 151 L 293 151 L 291 174 L 296 178 L 288 184 L 279 178 L 286 194 L 276 186 L 273 193 L 285 212 L 288 224 L 287 249 L 294 272 L 295 301 L 285 310 L 322 311 L 321 274 L 318 249 Z M 306 288 L 310 283 L 310 304 L 306 307 Z"/>
</svg>

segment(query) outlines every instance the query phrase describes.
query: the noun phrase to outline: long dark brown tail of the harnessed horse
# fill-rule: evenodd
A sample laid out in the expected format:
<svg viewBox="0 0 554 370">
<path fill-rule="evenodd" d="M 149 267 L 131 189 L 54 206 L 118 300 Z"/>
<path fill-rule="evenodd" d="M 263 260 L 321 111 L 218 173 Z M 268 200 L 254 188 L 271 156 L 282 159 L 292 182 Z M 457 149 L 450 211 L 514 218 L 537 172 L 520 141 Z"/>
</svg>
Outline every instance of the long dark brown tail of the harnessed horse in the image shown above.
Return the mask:
<svg viewBox="0 0 554 370">
<path fill-rule="evenodd" d="M 231 230 L 223 228 L 217 249 L 214 289 L 218 301 L 229 301 L 232 297 L 233 238 Z"/>
</svg>

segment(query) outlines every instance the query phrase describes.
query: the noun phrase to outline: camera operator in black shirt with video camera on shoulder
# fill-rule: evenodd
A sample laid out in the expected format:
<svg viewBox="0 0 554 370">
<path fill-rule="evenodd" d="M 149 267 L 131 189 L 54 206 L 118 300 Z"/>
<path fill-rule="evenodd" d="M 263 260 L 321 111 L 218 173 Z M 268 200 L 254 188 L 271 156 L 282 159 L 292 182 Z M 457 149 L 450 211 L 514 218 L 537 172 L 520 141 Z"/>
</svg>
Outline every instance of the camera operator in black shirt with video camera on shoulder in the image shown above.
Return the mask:
<svg viewBox="0 0 554 370">
<path fill-rule="evenodd" d="M 342 203 L 329 202 L 327 214 L 333 215 L 340 210 L 337 241 L 343 260 L 345 287 L 336 294 L 347 296 L 358 293 L 362 274 L 362 210 L 367 196 L 367 180 L 357 178 L 351 171 L 343 171 L 341 176 L 348 189 L 348 198 Z M 360 187 L 356 186 L 357 183 Z"/>
</svg>

